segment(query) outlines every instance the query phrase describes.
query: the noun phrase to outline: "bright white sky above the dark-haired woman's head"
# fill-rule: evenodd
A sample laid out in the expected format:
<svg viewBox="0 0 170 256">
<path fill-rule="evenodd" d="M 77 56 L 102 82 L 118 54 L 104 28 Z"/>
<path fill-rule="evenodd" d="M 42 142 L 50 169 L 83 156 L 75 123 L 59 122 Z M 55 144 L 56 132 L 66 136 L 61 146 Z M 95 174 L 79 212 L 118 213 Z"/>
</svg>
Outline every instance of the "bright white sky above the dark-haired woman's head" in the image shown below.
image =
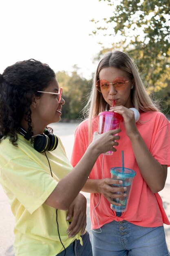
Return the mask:
<svg viewBox="0 0 170 256">
<path fill-rule="evenodd" d="M 89 36 L 92 18 L 111 14 L 98 0 L 1 0 L 0 73 L 17 61 L 35 58 L 55 72 L 70 72 L 73 65 L 90 78 L 92 64 L 104 38 Z M 111 42 L 110 42 L 111 43 Z"/>
</svg>

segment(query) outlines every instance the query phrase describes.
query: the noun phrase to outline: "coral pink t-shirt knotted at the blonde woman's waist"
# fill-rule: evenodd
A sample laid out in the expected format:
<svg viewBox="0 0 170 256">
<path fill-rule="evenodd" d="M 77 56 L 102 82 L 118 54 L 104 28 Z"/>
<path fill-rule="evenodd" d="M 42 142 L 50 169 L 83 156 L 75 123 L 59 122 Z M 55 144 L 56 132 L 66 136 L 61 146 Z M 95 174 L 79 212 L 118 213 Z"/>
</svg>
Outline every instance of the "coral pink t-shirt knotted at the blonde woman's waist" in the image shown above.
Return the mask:
<svg viewBox="0 0 170 256">
<path fill-rule="evenodd" d="M 162 165 L 170 166 L 170 122 L 161 112 L 143 112 L 140 115 L 142 123 L 137 123 L 142 138 L 150 153 Z M 104 178 L 110 177 L 110 168 L 121 166 L 121 150 L 124 150 L 124 166 L 136 171 L 132 190 L 128 202 L 128 209 L 117 217 L 115 211 L 110 209 L 110 203 L 103 195 L 91 193 L 91 228 L 98 229 L 113 220 L 127 220 L 142 227 L 159 227 L 170 222 L 163 209 L 163 203 L 158 193 L 152 193 L 141 176 L 131 142 L 123 123 L 119 133 L 119 145 L 113 155 L 104 157 Z M 92 133 L 98 130 L 98 117 L 93 120 Z M 75 131 L 75 142 L 71 157 L 71 164 L 75 166 L 88 147 L 88 120 L 83 121 Z M 99 155 L 90 175 L 90 179 L 102 179 L 102 159 Z M 149 172 L 149 169 L 148 169 Z M 97 206 L 97 204 L 99 205 Z M 96 207 L 97 206 L 97 207 Z M 96 207 L 96 208 L 95 208 Z M 94 212 L 93 212 L 94 211 Z M 97 216 L 97 218 L 95 217 Z M 98 220 L 98 222 L 97 222 Z M 99 223 L 99 224 L 98 224 Z"/>
</svg>

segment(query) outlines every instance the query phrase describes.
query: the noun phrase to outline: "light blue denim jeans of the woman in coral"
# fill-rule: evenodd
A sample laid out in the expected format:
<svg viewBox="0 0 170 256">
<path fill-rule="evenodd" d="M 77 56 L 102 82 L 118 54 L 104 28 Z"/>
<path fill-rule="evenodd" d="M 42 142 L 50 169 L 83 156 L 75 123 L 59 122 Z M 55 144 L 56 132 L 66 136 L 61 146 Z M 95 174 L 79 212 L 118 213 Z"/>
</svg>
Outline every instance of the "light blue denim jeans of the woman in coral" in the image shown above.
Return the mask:
<svg viewBox="0 0 170 256">
<path fill-rule="evenodd" d="M 101 230 L 92 231 L 93 256 L 170 255 L 163 226 L 140 227 L 123 220 L 110 222 Z"/>
</svg>

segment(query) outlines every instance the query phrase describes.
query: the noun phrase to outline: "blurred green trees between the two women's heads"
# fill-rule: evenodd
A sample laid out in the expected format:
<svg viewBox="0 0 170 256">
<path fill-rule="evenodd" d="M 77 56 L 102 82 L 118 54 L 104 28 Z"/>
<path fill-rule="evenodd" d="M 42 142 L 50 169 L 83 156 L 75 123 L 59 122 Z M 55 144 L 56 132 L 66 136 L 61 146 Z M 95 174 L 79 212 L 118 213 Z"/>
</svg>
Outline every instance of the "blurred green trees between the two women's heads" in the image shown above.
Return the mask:
<svg viewBox="0 0 170 256">
<path fill-rule="evenodd" d="M 62 120 L 79 118 L 88 98 L 90 81 L 77 74 L 77 67 L 71 75 L 63 71 L 57 72 L 56 77 L 59 86 L 63 88 L 63 99 L 66 102 L 62 106 Z"/>
</svg>

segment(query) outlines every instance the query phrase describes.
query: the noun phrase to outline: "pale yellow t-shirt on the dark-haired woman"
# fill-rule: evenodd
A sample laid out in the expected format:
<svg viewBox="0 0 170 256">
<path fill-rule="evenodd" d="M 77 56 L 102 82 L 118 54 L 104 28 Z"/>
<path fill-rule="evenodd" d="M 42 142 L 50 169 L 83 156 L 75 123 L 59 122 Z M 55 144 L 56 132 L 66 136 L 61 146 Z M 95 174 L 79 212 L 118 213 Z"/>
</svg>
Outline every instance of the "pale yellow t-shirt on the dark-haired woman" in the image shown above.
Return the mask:
<svg viewBox="0 0 170 256">
<path fill-rule="evenodd" d="M 15 256 L 55 256 L 64 250 L 57 231 L 56 209 L 45 204 L 45 200 L 66 176 L 72 166 L 66 157 L 60 141 L 55 150 L 39 153 L 30 141 L 18 135 L 18 146 L 13 146 L 9 138 L 0 142 L 0 183 L 9 198 L 15 216 Z M 57 210 L 59 233 L 64 247 L 74 238 L 68 238 L 66 211 Z"/>
</svg>

